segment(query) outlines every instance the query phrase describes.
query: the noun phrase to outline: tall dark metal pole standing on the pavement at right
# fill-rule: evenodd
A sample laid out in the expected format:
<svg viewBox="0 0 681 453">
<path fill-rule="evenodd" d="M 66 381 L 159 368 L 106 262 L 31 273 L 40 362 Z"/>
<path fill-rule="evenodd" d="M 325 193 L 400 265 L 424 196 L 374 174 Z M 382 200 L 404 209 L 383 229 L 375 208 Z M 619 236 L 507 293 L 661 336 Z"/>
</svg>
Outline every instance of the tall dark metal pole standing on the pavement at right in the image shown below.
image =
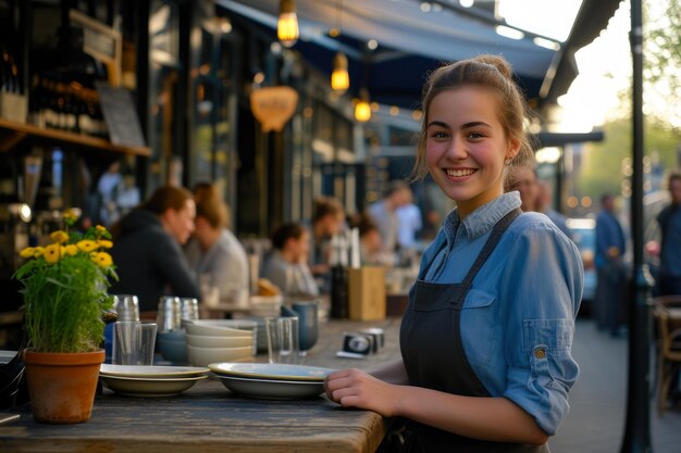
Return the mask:
<svg viewBox="0 0 681 453">
<path fill-rule="evenodd" d="M 633 237 L 633 301 L 630 303 L 629 388 L 627 425 L 621 453 L 651 453 L 649 311 L 652 278 L 643 262 L 643 17 L 642 0 L 631 0 L 633 58 L 633 176 L 631 226 Z"/>
</svg>

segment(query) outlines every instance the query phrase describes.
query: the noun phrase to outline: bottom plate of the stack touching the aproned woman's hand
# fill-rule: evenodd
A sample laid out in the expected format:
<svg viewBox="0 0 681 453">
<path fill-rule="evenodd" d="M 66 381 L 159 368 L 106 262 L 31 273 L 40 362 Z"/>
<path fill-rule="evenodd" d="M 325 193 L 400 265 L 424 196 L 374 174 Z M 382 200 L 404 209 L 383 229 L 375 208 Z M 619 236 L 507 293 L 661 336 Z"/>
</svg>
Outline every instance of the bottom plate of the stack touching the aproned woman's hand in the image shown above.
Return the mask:
<svg viewBox="0 0 681 453">
<path fill-rule="evenodd" d="M 324 382 L 319 381 L 252 379 L 226 375 L 218 375 L 218 378 L 234 393 L 264 400 L 301 400 L 324 392 Z"/>
</svg>

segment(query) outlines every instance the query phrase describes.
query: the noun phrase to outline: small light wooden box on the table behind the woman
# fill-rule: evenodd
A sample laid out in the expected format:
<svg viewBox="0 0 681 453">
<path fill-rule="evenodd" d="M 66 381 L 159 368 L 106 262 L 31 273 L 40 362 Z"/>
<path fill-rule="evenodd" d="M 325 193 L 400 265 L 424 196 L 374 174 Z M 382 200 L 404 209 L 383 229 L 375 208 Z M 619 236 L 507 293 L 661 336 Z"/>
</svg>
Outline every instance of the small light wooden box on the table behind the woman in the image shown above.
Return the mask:
<svg viewBox="0 0 681 453">
<path fill-rule="evenodd" d="M 364 266 L 348 270 L 350 319 L 385 319 L 385 268 Z"/>
</svg>

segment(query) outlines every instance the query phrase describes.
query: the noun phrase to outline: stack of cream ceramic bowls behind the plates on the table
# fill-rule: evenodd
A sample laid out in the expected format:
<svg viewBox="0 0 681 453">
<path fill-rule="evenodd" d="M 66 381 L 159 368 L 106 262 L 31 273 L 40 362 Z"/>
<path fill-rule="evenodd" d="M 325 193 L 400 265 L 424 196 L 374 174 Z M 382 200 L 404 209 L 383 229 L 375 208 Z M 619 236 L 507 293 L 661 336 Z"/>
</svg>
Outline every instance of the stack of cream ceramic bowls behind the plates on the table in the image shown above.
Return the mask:
<svg viewBox="0 0 681 453">
<path fill-rule="evenodd" d="M 252 362 L 258 323 L 242 319 L 197 319 L 185 323 L 187 357 L 193 366 Z"/>
</svg>

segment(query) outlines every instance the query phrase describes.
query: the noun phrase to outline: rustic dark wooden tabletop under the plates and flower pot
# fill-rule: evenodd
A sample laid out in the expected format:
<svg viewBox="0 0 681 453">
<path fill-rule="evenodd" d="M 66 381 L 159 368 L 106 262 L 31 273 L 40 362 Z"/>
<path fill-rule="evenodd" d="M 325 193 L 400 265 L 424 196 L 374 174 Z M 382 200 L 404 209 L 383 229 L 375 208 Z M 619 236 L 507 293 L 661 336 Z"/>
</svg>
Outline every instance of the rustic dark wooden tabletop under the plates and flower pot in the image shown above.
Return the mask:
<svg viewBox="0 0 681 453">
<path fill-rule="evenodd" d="M 364 360 L 337 358 L 343 332 L 385 329 L 385 347 Z M 367 367 L 398 354 L 399 318 L 382 322 L 330 320 L 305 363 L 334 368 Z M 79 425 L 42 425 L 30 407 L 0 425 L 7 452 L 374 452 L 389 420 L 370 411 L 348 410 L 325 397 L 304 401 L 240 398 L 216 380 L 199 381 L 177 397 L 129 398 L 108 389 L 92 415 Z"/>
</svg>

